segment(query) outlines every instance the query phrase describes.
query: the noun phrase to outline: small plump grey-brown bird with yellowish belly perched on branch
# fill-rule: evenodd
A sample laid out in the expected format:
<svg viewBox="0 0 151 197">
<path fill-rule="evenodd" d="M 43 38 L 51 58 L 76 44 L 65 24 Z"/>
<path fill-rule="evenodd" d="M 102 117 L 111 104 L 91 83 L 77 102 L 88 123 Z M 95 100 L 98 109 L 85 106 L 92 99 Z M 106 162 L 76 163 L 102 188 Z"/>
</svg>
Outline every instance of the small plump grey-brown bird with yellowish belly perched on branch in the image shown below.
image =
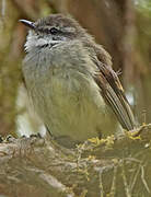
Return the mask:
<svg viewBox="0 0 151 197">
<path fill-rule="evenodd" d="M 30 27 L 22 67 L 28 97 L 58 143 L 72 148 L 135 128 L 109 54 L 74 19 L 50 14 L 20 21 Z"/>
</svg>

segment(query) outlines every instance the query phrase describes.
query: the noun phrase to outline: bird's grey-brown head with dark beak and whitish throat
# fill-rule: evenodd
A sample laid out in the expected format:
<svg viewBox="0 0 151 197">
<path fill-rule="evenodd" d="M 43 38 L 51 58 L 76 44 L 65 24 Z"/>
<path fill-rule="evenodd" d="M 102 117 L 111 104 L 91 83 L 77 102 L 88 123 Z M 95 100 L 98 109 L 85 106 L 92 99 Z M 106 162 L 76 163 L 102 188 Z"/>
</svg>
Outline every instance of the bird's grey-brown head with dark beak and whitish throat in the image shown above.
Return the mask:
<svg viewBox="0 0 151 197">
<path fill-rule="evenodd" d="M 53 47 L 62 42 L 92 39 L 74 19 L 62 14 L 50 14 L 36 22 L 20 21 L 30 27 L 25 44 L 26 51 L 34 47 Z"/>
</svg>

